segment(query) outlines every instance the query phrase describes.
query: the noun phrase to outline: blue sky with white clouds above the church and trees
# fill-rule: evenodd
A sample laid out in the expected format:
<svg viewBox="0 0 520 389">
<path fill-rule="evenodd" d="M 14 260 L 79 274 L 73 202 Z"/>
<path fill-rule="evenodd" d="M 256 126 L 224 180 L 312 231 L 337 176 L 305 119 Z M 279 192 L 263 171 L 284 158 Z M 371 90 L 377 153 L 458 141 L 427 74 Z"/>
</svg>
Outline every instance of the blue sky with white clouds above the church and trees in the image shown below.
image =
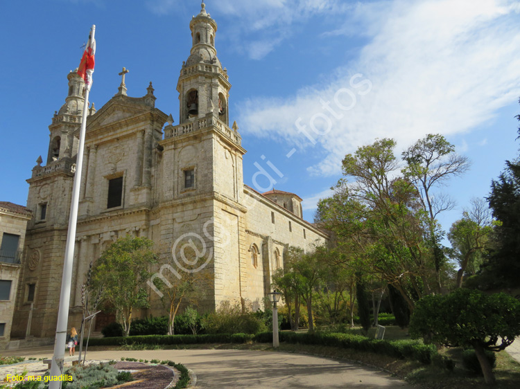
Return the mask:
<svg viewBox="0 0 520 389">
<path fill-rule="evenodd" d="M 299 194 L 308 220 L 343 156 L 375 138 L 395 138 L 399 155 L 440 133 L 469 156 L 471 170 L 442 188 L 458 203 L 440 218 L 446 230 L 518 155 L 519 1 L 206 4 L 233 84 L 229 118 L 248 150 L 244 182 L 255 186 L 254 163 L 272 172 L 270 161 L 283 174 L 272 172 L 275 188 Z M 144 96 L 152 81 L 156 107 L 178 121 L 175 86 L 199 11 L 200 1 L 186 0 L 0 1 L 0 201 L 26 203 L 25 180 L 46 159 L 48 126 L 92 24 L 96 108 L 125 66 L 128 95 Z"/>
</svg>

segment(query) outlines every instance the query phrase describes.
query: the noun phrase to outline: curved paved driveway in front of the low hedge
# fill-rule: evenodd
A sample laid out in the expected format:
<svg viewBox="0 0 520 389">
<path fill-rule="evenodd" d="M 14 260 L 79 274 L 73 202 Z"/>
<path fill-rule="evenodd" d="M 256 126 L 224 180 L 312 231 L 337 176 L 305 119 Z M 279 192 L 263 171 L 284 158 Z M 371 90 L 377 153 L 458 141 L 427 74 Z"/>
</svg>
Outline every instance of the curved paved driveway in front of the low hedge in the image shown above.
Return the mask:
<svg viewBox="0 0 520 389">
<path fill-rule="evenodd" d="M 3 354 L 52 355 L 51 347 L 10 350 Z M 171 359 L 197 374 L 197 388 L 401 388 L 404 381 L 353 363 L 301 354 L 248 350 L 91 351 L 88 359 Z M 3 377 L 0 377 L 3 379 Z"/>
</svg>

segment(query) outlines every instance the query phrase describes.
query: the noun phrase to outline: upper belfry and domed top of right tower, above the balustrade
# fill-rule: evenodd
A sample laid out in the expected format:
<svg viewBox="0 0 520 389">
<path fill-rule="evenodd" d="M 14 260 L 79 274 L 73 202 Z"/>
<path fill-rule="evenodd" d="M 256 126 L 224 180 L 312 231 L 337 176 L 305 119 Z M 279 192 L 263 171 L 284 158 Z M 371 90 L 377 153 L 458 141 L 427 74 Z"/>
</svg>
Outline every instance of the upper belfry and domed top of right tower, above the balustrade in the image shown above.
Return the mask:
<svg viewBox="0 0 520 389">
<path fill-rule="evenodd" d="M 180 100 L 179 122 L 188 123 L 213 113 L 225 125 L 229 125 L 227 99 L 229 84 L 227 70 L 222 68 L 215 48 L 217 24 L 202 10 L 191 19 L 192 47 L 188 60 L 182 64 L 177 83 Z"/>
</svg>

